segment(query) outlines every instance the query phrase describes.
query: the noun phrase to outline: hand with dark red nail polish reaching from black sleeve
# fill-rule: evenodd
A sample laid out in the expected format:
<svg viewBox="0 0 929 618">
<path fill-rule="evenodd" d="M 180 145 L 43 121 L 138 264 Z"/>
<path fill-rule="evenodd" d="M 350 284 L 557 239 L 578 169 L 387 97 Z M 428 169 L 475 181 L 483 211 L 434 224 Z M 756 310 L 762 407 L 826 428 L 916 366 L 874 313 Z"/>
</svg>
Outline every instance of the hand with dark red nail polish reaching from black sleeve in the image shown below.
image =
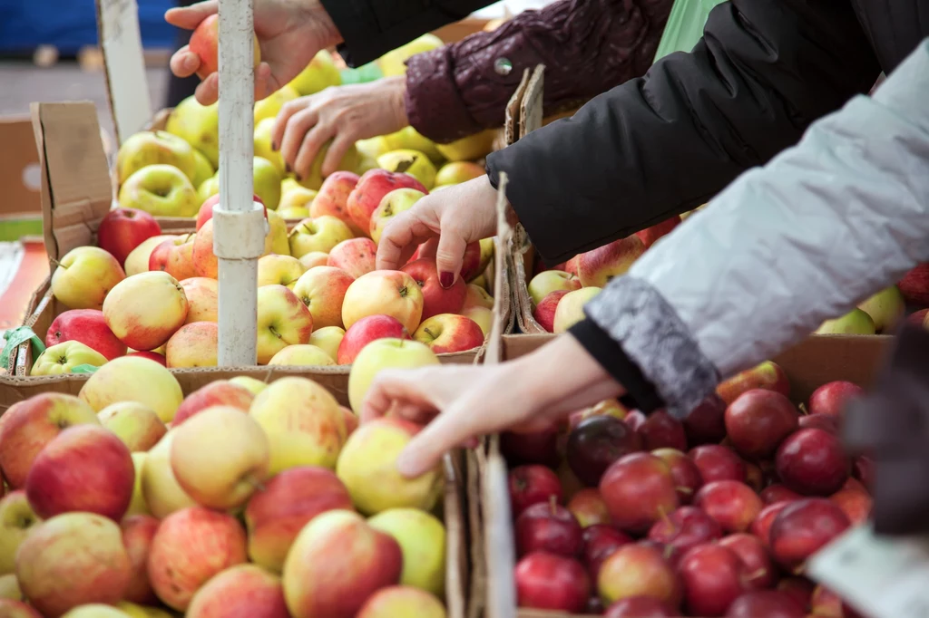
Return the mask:
<svg viewBox="0 0 929 618">
<path fill-rule="evenodd" d="M 516 223 L 515 215 L 512 222 Z M 438 238 L 439 280 L 448 281 L 443 287 L 451 287 L 461 272 L 467 244 L 490 238 L 496 231 L 497 191 L 486 175 L 480 176 L 427 195 L 395 216 L 377 245 L 377 269 L 397 270 L 419 245 Z"/>
</svg>

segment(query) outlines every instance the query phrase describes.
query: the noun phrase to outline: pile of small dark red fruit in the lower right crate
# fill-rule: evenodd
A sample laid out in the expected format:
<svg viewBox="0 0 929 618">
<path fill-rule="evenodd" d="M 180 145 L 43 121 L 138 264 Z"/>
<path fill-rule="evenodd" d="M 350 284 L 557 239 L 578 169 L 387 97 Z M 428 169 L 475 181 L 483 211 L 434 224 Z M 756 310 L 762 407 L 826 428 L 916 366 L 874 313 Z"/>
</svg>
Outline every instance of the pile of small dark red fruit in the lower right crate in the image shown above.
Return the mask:
<svg viewBox="0 0 929 618">
<path fill-rule="evenodd" d="M 504 433 L 521 607 L 608 618 L 857 617 L 805 561 L 867 521 L 872 462 L 839 437 L 833 381 L 794 406 L 773 362 L 683 422 L 616 401 Z"/>
</svg>

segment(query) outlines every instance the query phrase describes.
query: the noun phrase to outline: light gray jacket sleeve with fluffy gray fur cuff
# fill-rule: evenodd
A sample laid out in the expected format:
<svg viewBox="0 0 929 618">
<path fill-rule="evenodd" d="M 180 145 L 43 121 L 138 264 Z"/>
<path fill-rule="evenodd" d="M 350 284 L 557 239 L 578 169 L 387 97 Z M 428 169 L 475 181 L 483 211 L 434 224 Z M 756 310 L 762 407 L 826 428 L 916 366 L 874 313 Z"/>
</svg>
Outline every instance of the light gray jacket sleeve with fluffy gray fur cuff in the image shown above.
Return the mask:
<svg viewBox="0 0 929 618">
<path fill-rule="evenodd" d="M 929 39 L 586 307 L 677 416 L 929 260 Z"/>
</svg>

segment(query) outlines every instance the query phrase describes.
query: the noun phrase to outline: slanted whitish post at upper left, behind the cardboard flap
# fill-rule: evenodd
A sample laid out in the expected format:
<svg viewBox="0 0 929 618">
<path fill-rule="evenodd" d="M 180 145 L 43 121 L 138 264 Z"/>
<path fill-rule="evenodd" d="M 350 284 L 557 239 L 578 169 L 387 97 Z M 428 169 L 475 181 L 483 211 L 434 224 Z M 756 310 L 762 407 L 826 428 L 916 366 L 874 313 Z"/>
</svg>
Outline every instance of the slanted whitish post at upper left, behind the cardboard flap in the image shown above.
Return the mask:
<svg viewBox="0 0 929 618">
<path fill-rule="evenodd" d="M 97 32 L 106 71 L 107 101 L 122 144 L 151 120 L 136 0 L 97 0 Z"/>
</svg>

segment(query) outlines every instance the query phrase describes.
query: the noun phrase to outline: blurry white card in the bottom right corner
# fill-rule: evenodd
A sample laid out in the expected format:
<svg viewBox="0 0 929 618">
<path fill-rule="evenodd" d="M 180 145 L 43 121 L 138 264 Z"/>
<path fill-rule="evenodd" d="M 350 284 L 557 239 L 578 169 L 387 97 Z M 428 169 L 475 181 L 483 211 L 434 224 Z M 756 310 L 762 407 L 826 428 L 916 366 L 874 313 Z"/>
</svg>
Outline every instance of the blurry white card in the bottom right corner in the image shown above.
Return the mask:
<svg viewBox="0 0 929 618">
<path fill-rule="evenodd" d="M 858 526 L 813 556 L 806 574 L 870 618 L 929 618 L 929 537 Z"/>
</svg>

